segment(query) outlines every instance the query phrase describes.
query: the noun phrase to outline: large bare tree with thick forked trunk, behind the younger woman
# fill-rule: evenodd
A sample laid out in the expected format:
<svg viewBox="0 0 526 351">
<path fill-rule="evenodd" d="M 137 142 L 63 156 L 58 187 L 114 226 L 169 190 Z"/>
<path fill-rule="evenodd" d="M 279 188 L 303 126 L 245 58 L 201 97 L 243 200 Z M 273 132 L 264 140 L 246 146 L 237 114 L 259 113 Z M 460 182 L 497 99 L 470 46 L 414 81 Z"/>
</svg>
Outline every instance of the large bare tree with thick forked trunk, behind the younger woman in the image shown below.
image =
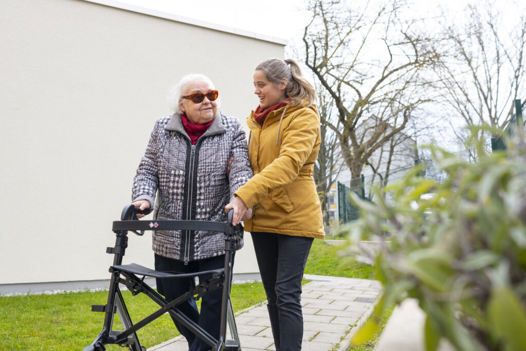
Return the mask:
<svg viewBox="0 0 526 351">
<path fill-rule="evenodd" d="M 327 123 L 338 137 L 352 178 L 369 157 L 406 128 L 411 115 L 431 98 L 429 69 L 440 55 L 420 21 L 401 16 L 398 0 L 379 8 L 369 2 L 352 8 L 336 0 L 312 0 L 305 27 L 305 64 L 333 100 L 339 124 Z M 370 133 L 357 133 L 370 116 Z"/>
</svg>

